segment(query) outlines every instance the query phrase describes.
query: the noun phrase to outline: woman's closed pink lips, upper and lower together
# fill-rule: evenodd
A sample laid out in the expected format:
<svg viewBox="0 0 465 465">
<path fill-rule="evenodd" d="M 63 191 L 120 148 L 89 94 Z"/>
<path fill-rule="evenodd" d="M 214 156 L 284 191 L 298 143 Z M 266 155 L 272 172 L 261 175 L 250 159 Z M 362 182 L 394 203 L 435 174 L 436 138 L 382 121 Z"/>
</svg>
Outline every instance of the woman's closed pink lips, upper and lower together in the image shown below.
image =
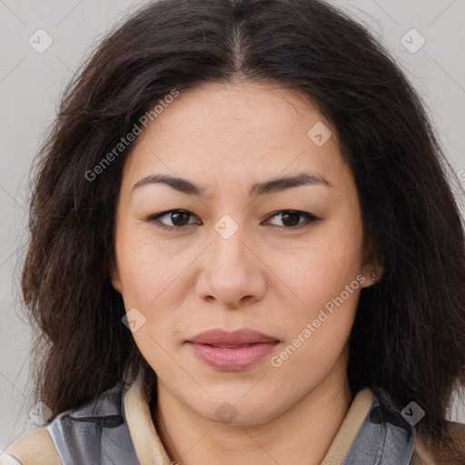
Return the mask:
<svg viewBox="0 0 465 465">
<path fill-rule="evenodd" d="M 220 371 L 240 371 L 262 361 L 280 341 L 262 332 L 243 328 L 203 331 L 186 342 L 207 365 Z"/>
</svg>

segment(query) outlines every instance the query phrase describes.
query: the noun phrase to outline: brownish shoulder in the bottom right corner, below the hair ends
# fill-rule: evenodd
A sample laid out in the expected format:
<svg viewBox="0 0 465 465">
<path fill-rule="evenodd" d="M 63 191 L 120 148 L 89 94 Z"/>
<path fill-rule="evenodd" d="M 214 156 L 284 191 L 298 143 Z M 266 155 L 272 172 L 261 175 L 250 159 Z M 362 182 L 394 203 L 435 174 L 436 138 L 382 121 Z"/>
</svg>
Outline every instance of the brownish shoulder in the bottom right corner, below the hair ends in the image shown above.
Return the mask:
<svg viewBox="0 0 465 465">
<path fill-rule="evenodd" d="M 440 442 L 417 436 L 411 465 L 463 465 L 464 463 L 464 424 L 449 421 L 447 435 Z"/>
</svg>

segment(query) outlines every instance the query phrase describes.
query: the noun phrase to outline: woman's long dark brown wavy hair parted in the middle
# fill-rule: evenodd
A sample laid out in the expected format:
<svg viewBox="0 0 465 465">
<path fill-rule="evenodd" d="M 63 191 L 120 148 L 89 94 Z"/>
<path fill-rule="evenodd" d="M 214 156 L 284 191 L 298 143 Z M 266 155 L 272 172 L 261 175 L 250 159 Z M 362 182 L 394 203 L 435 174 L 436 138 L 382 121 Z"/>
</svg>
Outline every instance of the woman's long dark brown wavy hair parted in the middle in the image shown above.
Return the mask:
<svg viewBox="0 0 465 465">
<path fill-rule="evenodd" d="M 361 291 L 350 337 L 352 394 L 370 386 L 400 406 L 416 401 L 426 411 L 418 428 L 442 436 L 451 393 L 465 383 L 457 177 L 391 55 L 351 17 L 316 0 L 143 5 L 69 83 L 35 163 L 22 275 L 38 326 L 35 399 L 53 411 L 51 421 L 134 380 L 144 363 L 109 276 L 132 145 L 93 180 L 86 173 L 173 89 L 234 80 L 301 91 L 333 124 L 361 199 L 367 260 L 384 267 Z"/>
</svg>

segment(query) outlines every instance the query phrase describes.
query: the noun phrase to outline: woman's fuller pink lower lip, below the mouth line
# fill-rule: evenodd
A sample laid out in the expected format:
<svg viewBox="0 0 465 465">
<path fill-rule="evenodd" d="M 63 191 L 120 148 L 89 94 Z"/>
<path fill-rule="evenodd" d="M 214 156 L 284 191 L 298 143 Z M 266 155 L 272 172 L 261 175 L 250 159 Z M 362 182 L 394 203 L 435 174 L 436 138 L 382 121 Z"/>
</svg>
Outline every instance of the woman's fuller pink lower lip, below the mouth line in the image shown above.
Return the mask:
<svg viewBox="0 0 465 465">
<path fill-rule="evenodd" d="M 245 370 L 262 361 L 278 342 L 258 342 L 237 349 L 222 349 L 208 344 L 189 342 L 195 355 L 207 365 L 221 371 Z"/>
</svg>

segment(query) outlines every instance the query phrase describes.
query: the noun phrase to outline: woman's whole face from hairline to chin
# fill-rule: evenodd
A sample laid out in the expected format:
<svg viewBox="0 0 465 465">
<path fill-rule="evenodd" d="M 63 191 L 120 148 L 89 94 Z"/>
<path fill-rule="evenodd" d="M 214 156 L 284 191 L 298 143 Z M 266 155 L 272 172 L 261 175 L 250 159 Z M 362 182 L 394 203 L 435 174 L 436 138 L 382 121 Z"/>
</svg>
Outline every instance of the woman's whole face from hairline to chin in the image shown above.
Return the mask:
<svg viewBox="0 0 465 465">
<path fill-rule="evenodd" d="M 312 101 L 202 84 L 126 160 L 112 280 L 159 392 L 204 419 L 226 409 L 256 424 L 344 379 L 372 283 L 364 246 L 351 171 Z"/>
</svg>

